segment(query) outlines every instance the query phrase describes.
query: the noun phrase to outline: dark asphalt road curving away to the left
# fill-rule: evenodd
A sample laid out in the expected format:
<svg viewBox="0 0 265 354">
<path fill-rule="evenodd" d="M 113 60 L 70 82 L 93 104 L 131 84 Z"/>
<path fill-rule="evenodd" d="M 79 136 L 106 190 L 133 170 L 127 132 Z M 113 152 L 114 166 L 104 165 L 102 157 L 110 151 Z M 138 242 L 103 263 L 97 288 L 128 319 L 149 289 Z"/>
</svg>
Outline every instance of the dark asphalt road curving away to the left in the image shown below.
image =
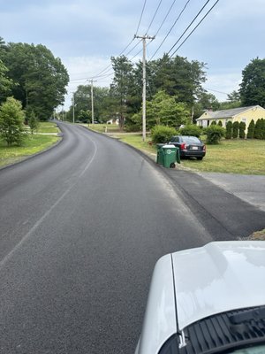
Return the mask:
<svg viewBox="0 0 265 354">
<path fill-rule="evenodd" d="M 0 353 L 133 353 L 155 261 L 237 239 L 264 213 L 120 142 L 61 127 L 56 148 L 0 171 Z"/>
</svg>

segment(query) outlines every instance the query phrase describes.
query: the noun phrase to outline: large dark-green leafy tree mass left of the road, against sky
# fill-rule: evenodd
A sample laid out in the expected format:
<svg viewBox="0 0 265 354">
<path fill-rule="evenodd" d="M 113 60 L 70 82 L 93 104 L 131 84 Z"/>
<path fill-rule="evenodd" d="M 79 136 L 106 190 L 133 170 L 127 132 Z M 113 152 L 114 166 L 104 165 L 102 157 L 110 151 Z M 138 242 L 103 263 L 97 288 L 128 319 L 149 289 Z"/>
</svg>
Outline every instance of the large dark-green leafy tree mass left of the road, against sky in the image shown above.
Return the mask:
<svg viewBox="0 0 265 354">
<path fill-rule="evenodd" d="M 49 119 L 54 108 L 64 103 L 69 76 L 61 60 L 45 46 L 9 43 L 6 50 L 0 50 L 0 59 L 15 83 L 12 95 L 23 108 L 30 105 L 38 119 Z"/>
</svg>

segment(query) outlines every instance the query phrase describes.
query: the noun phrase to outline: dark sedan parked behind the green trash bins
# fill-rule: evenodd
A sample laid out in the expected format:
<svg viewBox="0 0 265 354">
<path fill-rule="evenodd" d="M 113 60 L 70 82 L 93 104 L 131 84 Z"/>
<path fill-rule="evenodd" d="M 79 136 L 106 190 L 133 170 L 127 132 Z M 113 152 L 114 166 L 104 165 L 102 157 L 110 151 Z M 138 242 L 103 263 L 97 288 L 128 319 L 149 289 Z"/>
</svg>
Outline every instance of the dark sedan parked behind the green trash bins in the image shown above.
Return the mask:
<svg viewBox="0 0 265 354">
<path fill-rule="evenodd" d="M 172 136 L 169 143 L 179 148 L 180 158 L 197 158 L 198 160 L 202 160 L 205 157 L 206 146 L 196 136 Z"/>
</svg>

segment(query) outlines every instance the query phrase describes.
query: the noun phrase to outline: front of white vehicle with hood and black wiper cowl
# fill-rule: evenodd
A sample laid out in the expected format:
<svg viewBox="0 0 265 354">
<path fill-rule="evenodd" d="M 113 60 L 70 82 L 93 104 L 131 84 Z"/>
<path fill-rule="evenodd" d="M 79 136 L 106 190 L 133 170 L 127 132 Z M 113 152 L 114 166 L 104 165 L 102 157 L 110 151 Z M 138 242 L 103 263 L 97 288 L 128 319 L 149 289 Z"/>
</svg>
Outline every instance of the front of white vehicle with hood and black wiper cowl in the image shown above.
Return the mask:
<svg viewBox="0 0 265 354">
<path fill-rule="evenodd" d="M 265 242 L 210 242 L 155 265 L 135 354 L 264 354 Z"/>
</svg>

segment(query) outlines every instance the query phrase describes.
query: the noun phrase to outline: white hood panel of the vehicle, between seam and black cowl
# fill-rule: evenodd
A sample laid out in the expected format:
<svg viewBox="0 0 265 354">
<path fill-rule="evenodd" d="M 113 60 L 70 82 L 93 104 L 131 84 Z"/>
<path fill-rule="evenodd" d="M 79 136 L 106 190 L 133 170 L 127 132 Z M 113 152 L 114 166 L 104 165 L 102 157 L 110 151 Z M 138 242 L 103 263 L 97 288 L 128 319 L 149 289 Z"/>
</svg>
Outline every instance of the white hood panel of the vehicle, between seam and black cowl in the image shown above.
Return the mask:
<svg viewBox="0 0 265 354">
<path fill-rule="evenodd" d="M 265 242 L 211 242 L 172 254 L 178 328 L 265 304 Z"/>
</svg>

